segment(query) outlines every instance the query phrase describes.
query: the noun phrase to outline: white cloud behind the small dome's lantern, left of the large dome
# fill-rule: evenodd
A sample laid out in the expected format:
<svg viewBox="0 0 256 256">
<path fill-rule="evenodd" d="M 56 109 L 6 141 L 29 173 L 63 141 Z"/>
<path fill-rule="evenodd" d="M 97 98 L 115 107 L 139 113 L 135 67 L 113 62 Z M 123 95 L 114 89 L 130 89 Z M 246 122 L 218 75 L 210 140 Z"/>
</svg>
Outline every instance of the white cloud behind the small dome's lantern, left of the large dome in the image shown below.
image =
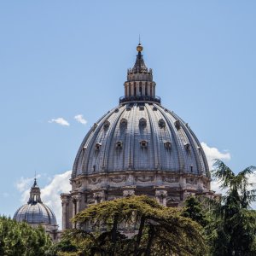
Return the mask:
<svg viewBox="0 0 256 256">
<path fill-rule="evenodd" d="M 62 227 L 62 210 L 61 210 L 61 193 L 68 193 L 71 190 L 69 179 L 72 171 L 56 174 L 54 177 L 47 178 L 49 183 L 42 187 L 40 181 L 38 186 L 41 189 L 41 199 L 45 205 L 55 212 L 55 217 L 59 229 Z M 33 177 L 21 177 L 20 181 L 16 183 L 16 188 L 21 192 L 20 201 L 22 204 L 26 204 L 29 199 L 30 188 L 32 187 Z"/>
</svg>

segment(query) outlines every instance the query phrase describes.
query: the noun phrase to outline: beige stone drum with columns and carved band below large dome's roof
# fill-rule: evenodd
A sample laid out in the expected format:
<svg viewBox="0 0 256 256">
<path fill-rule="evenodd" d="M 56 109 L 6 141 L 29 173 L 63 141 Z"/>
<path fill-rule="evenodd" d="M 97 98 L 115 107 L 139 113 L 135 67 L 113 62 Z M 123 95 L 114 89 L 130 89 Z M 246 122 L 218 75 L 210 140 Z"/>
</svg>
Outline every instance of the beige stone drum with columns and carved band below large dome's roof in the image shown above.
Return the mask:
<svg viewBox="0 0 256 256">
<path fill-rule="evenodd" d="M 134 171 L 79 176 L 72 179 L 72 192 L 61 194 L 62 229 L 73 228 L 70 218 L 91 204 L 129 195 L 148 195 L 166 207 L 182 205 L 189 195 L 216 196 L 210 178 L 195 174 Z"/>
</svg>

